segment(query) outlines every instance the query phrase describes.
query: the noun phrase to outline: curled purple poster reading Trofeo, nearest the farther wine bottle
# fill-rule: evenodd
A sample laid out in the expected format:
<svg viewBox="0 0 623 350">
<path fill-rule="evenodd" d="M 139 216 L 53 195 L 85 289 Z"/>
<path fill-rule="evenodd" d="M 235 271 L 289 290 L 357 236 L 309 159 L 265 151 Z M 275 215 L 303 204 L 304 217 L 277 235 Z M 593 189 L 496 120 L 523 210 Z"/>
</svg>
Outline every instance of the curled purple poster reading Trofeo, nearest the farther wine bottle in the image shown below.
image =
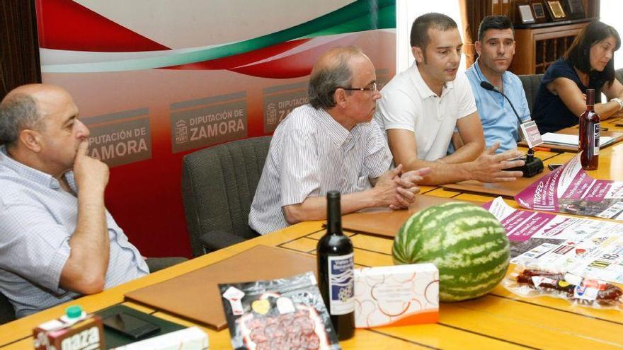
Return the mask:
<svg viewBox="0 0 623 350">
<path fill-rule="evenodd" d="M 623 182 L 590 177 L 580 154 L 515 196 L 527 209 L 623 221 Z"/>
</svg>

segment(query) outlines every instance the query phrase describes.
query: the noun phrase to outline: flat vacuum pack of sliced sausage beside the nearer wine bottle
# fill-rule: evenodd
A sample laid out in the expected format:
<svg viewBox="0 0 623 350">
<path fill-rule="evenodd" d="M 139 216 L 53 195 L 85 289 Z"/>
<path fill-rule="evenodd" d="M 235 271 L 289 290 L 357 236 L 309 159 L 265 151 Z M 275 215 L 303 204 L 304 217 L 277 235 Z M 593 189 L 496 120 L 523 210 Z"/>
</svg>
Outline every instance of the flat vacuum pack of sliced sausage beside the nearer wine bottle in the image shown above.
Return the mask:
<svg viewBox="0 0 623 350">
<path fill-rule="evenodd" d="M 312 272 L 219 290 L 236 350 L 341 349 Z"/>
</svg>

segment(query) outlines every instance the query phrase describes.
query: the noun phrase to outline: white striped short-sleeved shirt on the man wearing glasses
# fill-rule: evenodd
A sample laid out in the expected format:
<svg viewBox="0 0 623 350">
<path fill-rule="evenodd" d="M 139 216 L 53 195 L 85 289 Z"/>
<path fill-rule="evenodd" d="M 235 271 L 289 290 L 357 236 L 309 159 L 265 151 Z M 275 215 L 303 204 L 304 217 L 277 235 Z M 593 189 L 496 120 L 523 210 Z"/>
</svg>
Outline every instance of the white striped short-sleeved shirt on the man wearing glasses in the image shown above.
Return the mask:
<svg viewBox="0 0 623 350">
<path fill-rule="evenodd" d="M 285 228 L 283 206 L 334 189 L 342 194 L 369 189 L 370 179 L 390 165 L 387 141 L 375 121 L 349 132 L 323 109 L 297 107 L 275 130 L 248 224 L 262 235 Z"/>
</svg>

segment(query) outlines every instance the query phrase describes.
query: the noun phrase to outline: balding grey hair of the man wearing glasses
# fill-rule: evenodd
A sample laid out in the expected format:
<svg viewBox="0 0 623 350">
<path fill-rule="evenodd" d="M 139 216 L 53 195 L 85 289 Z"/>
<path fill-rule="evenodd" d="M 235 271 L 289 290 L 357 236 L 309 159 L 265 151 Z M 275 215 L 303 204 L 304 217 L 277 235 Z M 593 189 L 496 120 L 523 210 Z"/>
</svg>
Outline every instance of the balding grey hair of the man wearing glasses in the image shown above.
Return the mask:
<svg viewBox="0 0 623 350">
<path fill-rule="evenodd" d="M 323 55 L 309 78 L 307 97 L 311 107 L 328 109 L 336 106 L 336 89 L 352 87 L 350 58 L 358 54 L 363 54 L 360 48 L 349 46 L 333 48 Z"/>
</svg>

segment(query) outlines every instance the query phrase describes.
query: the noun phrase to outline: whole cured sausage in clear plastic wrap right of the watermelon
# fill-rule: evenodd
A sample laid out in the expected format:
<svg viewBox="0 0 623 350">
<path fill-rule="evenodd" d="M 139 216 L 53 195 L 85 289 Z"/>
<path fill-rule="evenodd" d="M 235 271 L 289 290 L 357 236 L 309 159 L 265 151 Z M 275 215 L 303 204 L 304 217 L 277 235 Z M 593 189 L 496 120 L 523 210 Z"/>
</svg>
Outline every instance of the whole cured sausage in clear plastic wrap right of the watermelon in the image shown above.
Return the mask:
<svg viewBox="0 0 623 350">
<path fill-rule="evenodd" d="M 553 296 L 566 299 L 573 305 L 623 310 L 623 289 L 620 286 L 554 267 L 517 265 L 502 285 L 519 296 Z"/>
</svg>

